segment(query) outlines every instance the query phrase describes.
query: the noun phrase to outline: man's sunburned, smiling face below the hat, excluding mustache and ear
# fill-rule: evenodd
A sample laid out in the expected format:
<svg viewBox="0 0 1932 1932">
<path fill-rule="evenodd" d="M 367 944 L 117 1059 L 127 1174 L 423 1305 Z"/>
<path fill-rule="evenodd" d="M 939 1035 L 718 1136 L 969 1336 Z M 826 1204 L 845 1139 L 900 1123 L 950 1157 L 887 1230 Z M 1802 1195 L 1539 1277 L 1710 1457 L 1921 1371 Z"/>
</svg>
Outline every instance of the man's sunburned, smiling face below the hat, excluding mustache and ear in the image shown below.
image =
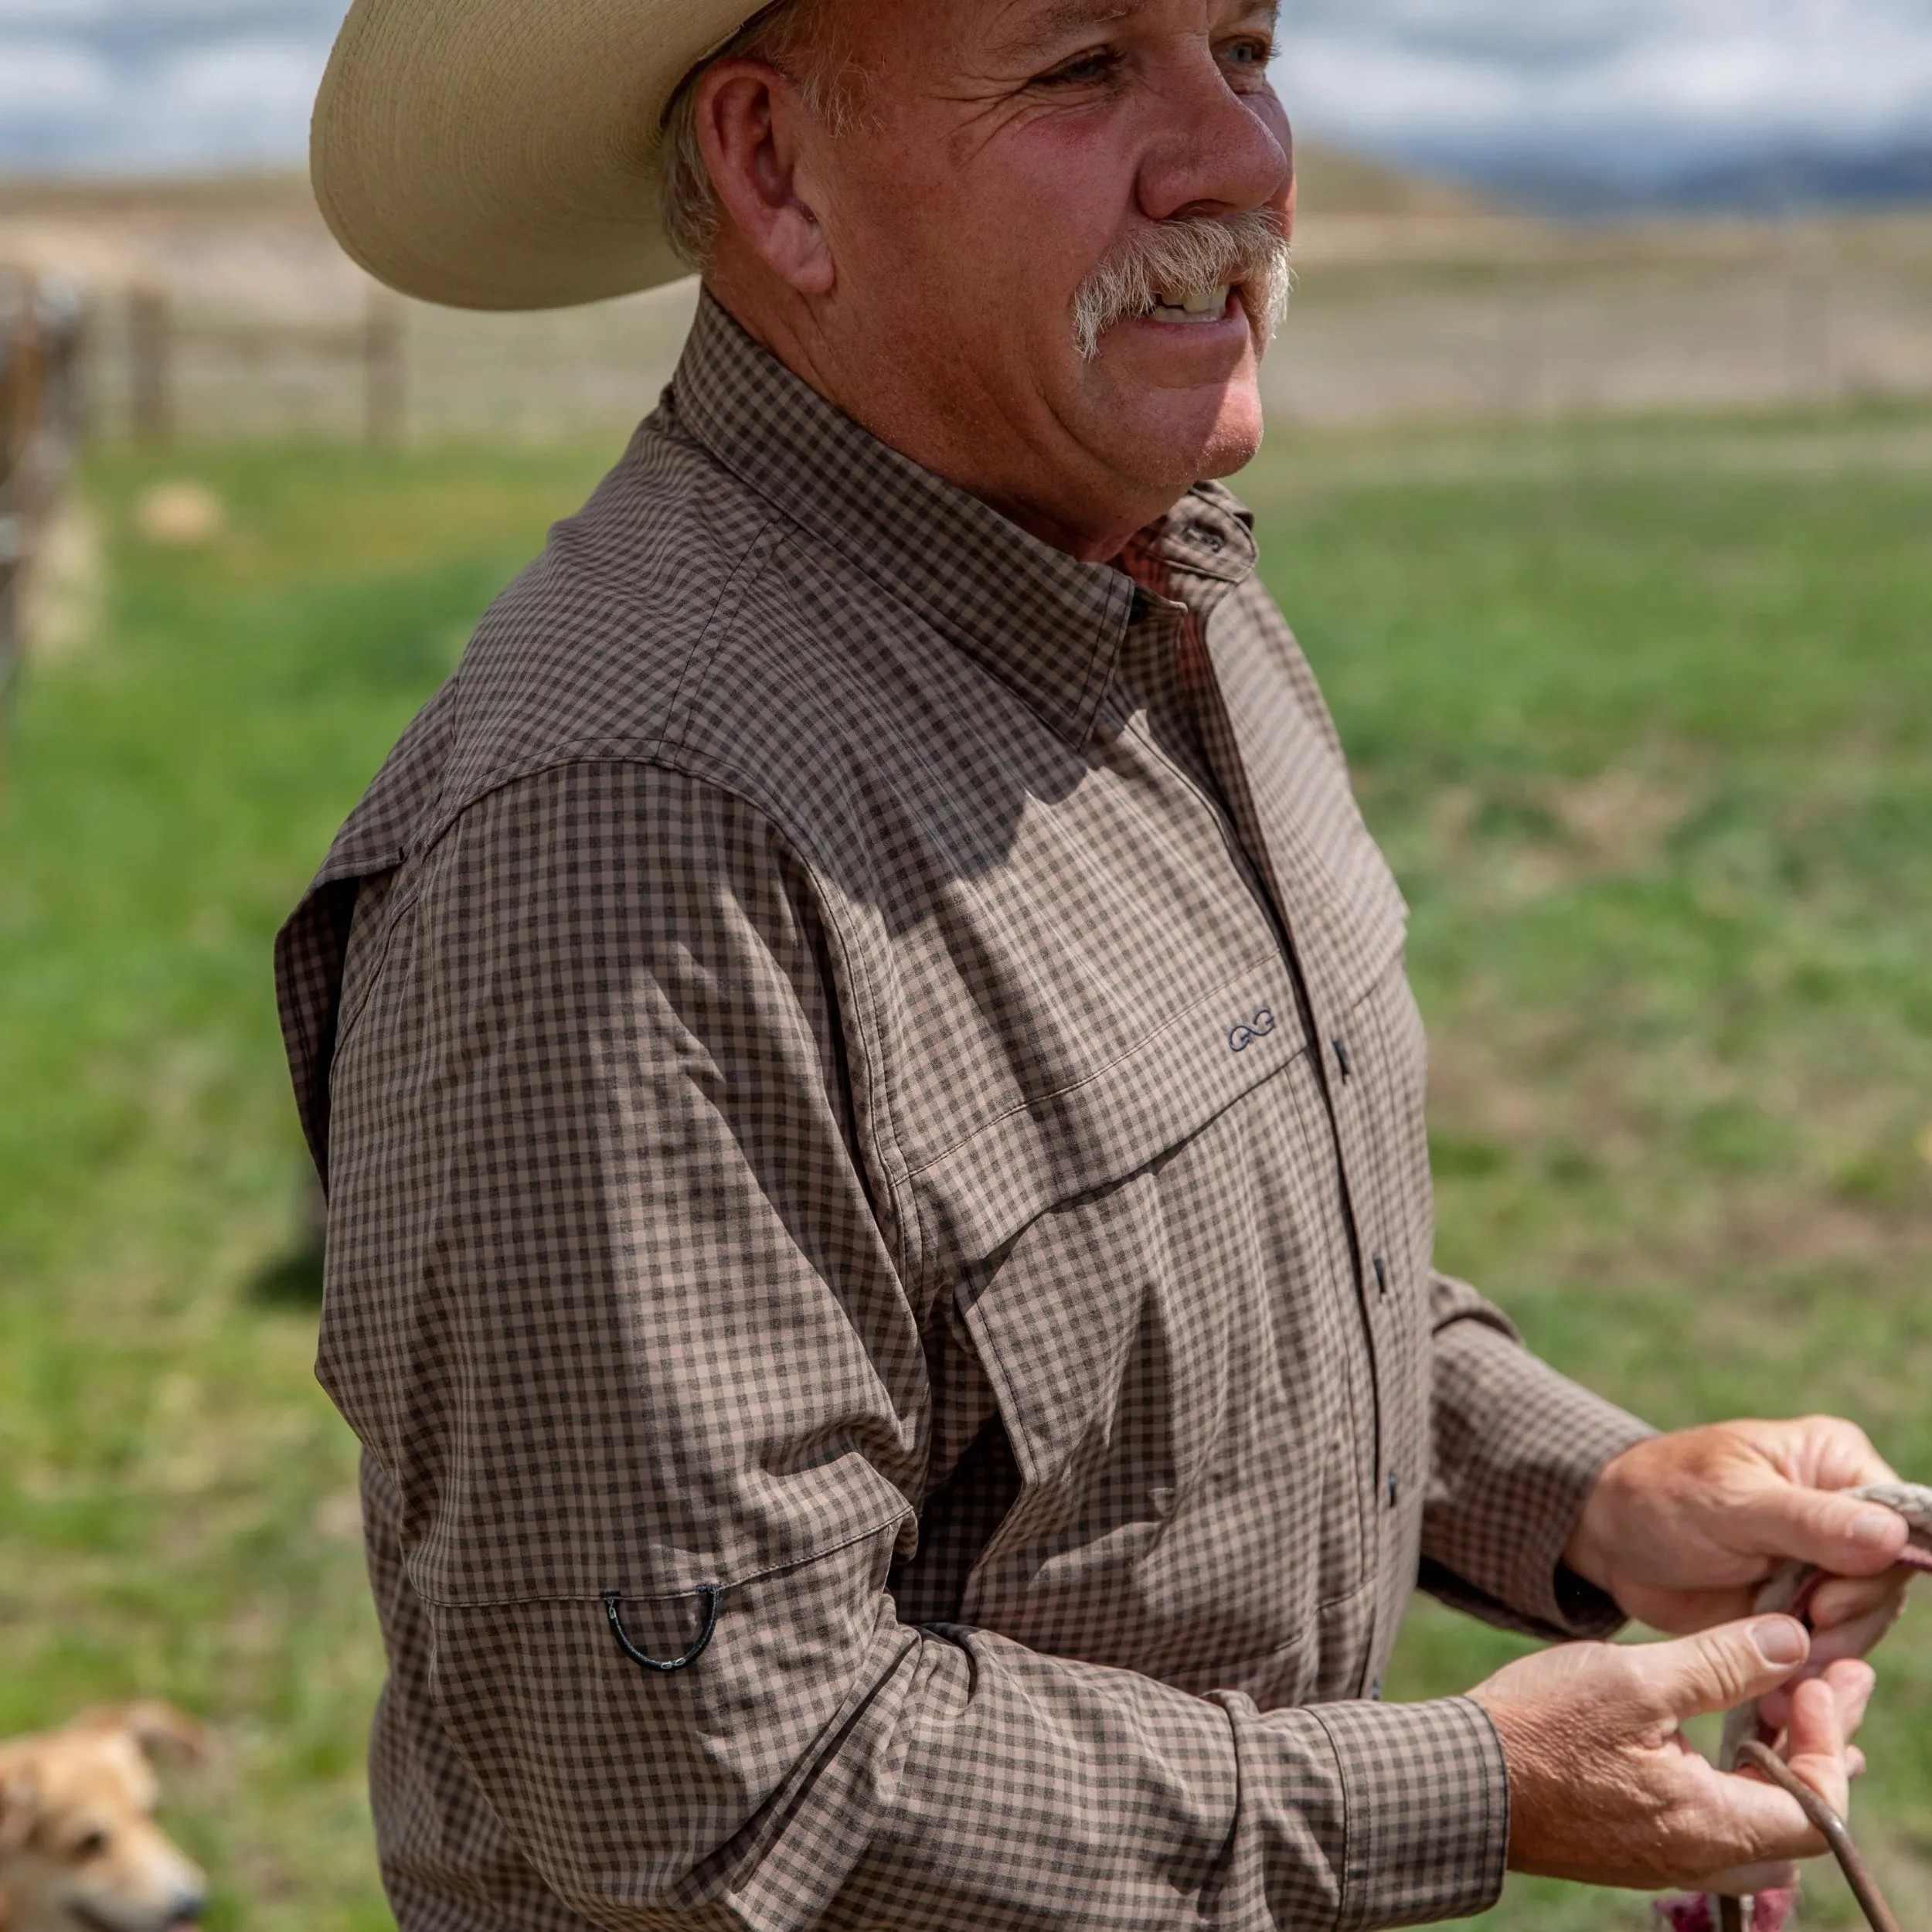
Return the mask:
<svg viewBox="0 0 1932 1932">
<path fill-rule="evenodd" d="M 1265 211 L 1287 232 L 1269 0 L 846 4 L 867 112 L 813 170 L 838 400 L 922 458 L 937 433 L 935 468 L 1036 529 L 1099 527 L 1107 502 L 1159 514 L 1246 464 L 1262 402 L 1242 288 L 1175 290 L 1206 313 L 1119 321 L 1092 354 L 1072 313 L 1151 224 Z"/>
</svg>

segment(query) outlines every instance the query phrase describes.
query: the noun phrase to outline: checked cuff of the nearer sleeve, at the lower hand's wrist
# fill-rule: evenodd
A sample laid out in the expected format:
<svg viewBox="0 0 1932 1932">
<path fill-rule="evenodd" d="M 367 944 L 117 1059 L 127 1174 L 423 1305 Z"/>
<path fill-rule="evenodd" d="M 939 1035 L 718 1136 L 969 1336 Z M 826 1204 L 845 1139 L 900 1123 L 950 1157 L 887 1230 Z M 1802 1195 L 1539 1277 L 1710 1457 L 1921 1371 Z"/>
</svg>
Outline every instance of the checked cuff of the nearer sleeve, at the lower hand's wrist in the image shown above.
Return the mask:
<svg viewBox="0 0 1932 1932">
<path fill-rule="evenodd" d="M 1503 1891 L 1509 1770 L 1488 1712 L 1316 1704 L 1341 1764 L 1343 1872 L 1335 1932 L 1468 1918 Z"/>
</svg>

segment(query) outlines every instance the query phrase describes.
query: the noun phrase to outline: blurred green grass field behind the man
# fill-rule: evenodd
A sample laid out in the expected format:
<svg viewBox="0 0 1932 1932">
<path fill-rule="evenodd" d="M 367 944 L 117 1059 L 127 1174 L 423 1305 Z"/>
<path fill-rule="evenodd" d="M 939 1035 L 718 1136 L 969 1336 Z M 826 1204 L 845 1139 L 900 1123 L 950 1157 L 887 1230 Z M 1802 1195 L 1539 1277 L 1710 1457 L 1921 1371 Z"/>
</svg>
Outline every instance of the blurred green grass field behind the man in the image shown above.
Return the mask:
<svg viewBox="0 0 1932 1932">
<path fill-rule="evenodd" d="M 0 1735 L 214 1721 L 213 1924 L 383 1926 L 346 1430 L 309 1379 L 269 941 L 595 456 L 99 456 L 89 636 L 0 817 Z M 139 537 L 162 475 L 195 549 Z M 1833 1406 L 1932 1474 L 1932 419 L 1283 439 L 1269 582 L 1414 908 L 1441 1260 L 1662 1424 Z M 1428 1607 L 1401 1692 L 1511 1654 Z M 1932 1638 L 1864 1837 L 1932 1880 Z M 1644 1905 L 1513 1886 L 1515 1928 Z M 1812 1922 L 1849 1922 L 1816 1888 Z"/>
</svg>

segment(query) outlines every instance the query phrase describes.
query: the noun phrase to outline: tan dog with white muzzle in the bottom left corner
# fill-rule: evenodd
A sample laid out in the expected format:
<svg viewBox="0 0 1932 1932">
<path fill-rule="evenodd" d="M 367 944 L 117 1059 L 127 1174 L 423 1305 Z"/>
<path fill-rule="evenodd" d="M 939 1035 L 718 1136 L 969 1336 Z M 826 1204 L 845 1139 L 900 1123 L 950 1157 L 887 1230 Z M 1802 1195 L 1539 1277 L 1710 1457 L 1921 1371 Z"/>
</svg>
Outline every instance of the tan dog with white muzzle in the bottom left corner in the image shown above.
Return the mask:
<svg viewBox="0 0 1932 1932">
<path fill-rule="evenodd" d="M 201 1752 L 201 1727 L 151 1702 L 0 1745 L 0 1932 L 193 1926 L 207 1888 L 155 1826 L 149 1756 Z"/>
</svg>

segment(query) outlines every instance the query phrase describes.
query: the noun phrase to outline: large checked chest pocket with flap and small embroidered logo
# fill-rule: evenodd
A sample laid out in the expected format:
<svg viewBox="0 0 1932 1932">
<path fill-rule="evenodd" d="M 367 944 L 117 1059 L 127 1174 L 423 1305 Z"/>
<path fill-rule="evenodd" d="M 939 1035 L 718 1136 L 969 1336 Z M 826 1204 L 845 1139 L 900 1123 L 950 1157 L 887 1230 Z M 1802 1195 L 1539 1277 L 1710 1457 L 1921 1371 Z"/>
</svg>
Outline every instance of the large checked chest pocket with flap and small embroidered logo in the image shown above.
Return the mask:
<svg viewBox="0 0 1932 1932">
<path fill-rule="evenodd" d="M 1020 1495 L 962 1615 L 1262 1702 L 1362 1586 L 1331 1138 L 1279 960 L 914 1175 Z"/>
</svg>

